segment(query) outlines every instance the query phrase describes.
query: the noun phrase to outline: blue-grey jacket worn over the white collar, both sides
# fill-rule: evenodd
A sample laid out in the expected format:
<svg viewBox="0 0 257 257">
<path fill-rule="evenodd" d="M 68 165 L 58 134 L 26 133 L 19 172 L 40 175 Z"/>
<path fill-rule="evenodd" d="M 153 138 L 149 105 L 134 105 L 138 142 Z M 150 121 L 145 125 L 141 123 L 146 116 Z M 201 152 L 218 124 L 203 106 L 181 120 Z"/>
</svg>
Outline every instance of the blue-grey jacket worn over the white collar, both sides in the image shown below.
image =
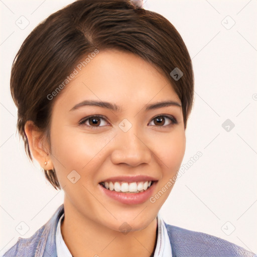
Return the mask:
<svg viewBox="0 0 257 257">
<path fill-rule="evenodd" d="M 56 257 L 55 235 L 63 204 L 49 221 L 29 238 L 18 238 L 4 257 Z M 257 257 L 253 252 L 216 236 L 187 230 L 165 223 L 169 234 L 172 257 Z M 59 256 L 58 256 L 59 257 Z"/>
</svg>

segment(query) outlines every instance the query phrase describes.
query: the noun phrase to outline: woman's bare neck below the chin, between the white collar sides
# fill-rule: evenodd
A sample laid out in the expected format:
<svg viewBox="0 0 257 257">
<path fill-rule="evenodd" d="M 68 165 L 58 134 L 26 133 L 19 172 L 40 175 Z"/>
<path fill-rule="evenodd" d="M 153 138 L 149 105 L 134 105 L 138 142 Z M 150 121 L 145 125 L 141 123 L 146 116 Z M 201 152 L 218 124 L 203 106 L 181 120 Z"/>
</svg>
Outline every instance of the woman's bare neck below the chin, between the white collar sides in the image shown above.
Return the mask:
<svg viewBox="0 0 257 257">
<path fill-rule="evenodd" d="M 73 257 L 119 257 L 154 255 L 157 243 L 157 218 L 146 228 L 124 234 L 90 220 L 64 201 L 65 217 L 61 233 Z"/>
</svg>

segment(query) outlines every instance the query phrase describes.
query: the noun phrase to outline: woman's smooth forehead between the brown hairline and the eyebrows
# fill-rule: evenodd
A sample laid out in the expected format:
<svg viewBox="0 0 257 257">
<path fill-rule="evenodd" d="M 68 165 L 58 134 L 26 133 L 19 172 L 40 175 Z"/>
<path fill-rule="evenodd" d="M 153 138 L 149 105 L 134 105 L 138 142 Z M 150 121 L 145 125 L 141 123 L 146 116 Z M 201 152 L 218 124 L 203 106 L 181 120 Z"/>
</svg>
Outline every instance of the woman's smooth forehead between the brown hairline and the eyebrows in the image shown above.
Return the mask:
<svg viewBox="0 0 257 257">
<path fill-rule="evenodd" d="M 181 102 L 166 76 L 133 53 L 99 51 L 82 68 L 75 69 L 77 74 L 65 86 L 56 104 L 68 107 L 87 98 L 111 101 L 119 106 L 160 99 Z"/>
</svg>

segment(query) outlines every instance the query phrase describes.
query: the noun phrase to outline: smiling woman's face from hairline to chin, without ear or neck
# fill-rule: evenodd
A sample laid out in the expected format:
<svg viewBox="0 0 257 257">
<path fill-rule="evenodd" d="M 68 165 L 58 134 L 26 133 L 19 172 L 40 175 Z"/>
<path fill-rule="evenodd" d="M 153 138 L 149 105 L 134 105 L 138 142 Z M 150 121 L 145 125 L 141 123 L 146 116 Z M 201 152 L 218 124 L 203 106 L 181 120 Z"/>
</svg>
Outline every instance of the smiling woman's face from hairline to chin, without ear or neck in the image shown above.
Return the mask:
<svg viewBox="0 0 257 257">
<path fill-rule="evenodd" d="M 168 101 L 173 104 L 156 105 Z M 50 139 L 57 178 L 74 211 L 117 231 L 123 222 L 140 230 L 157 216 L 184 156 L 181 101 L 140 57 L 100 51 L 58 95 Z M 101 185 L 141 191 L 150 180 L 140 193 Z"/>
</svg>

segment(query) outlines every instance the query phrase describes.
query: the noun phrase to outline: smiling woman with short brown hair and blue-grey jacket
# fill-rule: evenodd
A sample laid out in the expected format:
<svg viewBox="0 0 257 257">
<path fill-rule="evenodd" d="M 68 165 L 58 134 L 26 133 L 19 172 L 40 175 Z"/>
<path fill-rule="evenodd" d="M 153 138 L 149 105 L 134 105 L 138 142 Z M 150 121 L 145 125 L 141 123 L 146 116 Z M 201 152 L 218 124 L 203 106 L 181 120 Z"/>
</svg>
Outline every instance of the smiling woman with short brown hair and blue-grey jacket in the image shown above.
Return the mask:
<svg viewBox="0 0 257 257">
<path fill-rule="evenodd" d="M 4 256 L 254 256 L 164 222 L 193 103 L 187 48 L 125 0 L 81 0 L 25 40 L 11 92 L 18 130 L 64 203 Z"/>
</svg>

